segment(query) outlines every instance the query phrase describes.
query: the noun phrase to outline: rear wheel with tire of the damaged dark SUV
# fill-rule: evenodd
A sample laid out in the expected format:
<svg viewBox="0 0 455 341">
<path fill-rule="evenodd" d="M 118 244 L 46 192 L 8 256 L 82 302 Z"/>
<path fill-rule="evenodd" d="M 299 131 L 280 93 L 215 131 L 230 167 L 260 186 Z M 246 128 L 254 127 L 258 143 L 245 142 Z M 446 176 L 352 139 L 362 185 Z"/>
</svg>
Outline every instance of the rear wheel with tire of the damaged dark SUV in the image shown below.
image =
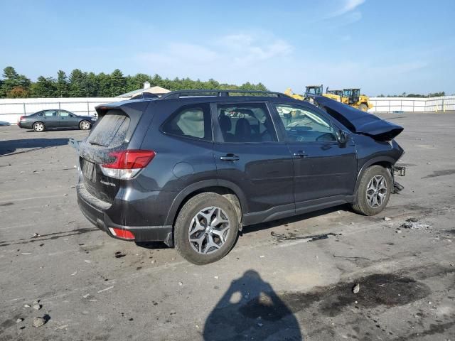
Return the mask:
<svg viewBox="0 0 455 341">
<path fill-rule="evenodd" d="M 213 263 L 232 249 L 239 222 L 228 199 L 212 192 L 198 194 L 178 213 L 174 244 L 178 253 L 193 264 Z"/>
</svg>

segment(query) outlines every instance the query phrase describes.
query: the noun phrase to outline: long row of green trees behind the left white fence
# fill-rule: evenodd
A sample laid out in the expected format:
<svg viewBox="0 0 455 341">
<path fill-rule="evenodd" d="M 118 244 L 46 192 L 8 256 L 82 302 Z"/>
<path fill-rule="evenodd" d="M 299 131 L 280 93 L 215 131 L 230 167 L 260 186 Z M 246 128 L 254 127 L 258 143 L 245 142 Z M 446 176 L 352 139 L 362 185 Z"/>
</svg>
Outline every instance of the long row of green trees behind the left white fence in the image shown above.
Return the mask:
<svg viewBox="0 0 455 341">
<path fill-rule="evenodd" d="M 208 81 L 191 80 L 190 78 L 162 78 L 159 75 L 123 75 L 119 69 L 112 73 L 83 72 L 73 70 L 70 75 L 62 70 L 57 72 L 57 77 L 40 76 L 32 82 L 25 75 L 20 75 L 14 67 L 8 66 L 3 70 L 0 79 L 0 98 L 26 98 L 26 97 L 116 97 L 133 90 L 144 87 L 144 82 L 150 85 L 164 87 L 168 90 L 198 90 L 198 89 L 238 89 L 267 91 L 262 83 L 252 84 L 246 82 L 242 85 L 220 83 L 210 79 Z"/>
</svg>

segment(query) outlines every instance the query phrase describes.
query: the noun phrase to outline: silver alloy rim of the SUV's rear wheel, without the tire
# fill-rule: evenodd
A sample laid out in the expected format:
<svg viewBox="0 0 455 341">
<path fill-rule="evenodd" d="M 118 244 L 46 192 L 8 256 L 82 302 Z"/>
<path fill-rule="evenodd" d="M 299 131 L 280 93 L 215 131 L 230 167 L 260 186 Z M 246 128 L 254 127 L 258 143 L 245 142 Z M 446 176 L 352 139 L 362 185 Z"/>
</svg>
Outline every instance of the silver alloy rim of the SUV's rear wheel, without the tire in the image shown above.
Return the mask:
<svg viewBox="0 0 455 341">
<path fill-rule="evenodd" d="M 223 247 L 228 238 L 230 222 L 220 207 L 205 207 L 191 220 L 188 238 L 199 254 L 212 254 Z"/>
</svg>

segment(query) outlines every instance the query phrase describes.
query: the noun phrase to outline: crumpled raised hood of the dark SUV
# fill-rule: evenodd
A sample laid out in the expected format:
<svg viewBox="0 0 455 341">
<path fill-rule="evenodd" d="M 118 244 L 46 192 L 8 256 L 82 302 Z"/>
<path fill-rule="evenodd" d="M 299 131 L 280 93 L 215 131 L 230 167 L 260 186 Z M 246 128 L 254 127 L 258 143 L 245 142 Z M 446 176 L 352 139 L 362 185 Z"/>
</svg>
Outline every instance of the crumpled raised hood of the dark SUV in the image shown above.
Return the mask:
<svg viewBox="0 0 455 341">
<path fill-rule="evenodd" d="M 312 98 L 321 109 L 355 134 L 368 135 L 376 140 L 388 141 L 395 138 L 404 129 L 402 126 L 350 107 L 348 104 L 336 102 L 323 96 L 313 96 Z"/>
</svg>

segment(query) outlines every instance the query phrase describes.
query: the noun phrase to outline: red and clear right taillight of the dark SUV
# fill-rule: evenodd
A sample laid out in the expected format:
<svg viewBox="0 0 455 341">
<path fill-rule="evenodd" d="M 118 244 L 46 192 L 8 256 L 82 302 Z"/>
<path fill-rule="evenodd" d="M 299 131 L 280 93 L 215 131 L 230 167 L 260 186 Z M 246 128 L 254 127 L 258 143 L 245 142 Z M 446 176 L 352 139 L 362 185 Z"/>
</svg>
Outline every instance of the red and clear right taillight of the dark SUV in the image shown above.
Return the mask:
<svg viewBox="0 0 455 341">
<path fill-rule="evenodd" d="M 154 151 L 126 150 L 109 153 L 114 160 L 101 165 L 102 173 L 111 178 L 131 179 L 155 157 Z"/>
</svg>

